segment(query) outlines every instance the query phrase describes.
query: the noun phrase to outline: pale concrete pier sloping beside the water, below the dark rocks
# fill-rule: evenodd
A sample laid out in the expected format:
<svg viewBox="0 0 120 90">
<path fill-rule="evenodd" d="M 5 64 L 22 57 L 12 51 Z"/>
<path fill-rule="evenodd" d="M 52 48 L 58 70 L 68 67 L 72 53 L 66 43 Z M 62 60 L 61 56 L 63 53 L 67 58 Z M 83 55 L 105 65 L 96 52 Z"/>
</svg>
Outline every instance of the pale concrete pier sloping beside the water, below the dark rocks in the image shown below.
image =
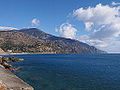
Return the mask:
<svg viewBox="0 0 120 90">
<path fill-rule="evenodd" d="M 0 90 L 34 90 L 30 85 L 0 66 Z"/>
</svg>

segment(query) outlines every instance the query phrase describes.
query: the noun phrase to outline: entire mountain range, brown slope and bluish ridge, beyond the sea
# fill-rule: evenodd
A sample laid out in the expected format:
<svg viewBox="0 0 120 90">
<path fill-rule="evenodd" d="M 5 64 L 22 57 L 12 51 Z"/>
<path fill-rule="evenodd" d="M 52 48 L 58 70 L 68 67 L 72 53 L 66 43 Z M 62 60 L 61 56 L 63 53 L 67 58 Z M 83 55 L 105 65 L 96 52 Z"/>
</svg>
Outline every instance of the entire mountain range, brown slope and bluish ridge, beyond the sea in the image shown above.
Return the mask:
<svg viewBox="0 0 120 90">
<path fill-rule="evenodd" d="M 53 36 L 37 28 L 0 31 L 0 48 L 13 53 L 105 53 L 86 43 Z"/>
</svg>

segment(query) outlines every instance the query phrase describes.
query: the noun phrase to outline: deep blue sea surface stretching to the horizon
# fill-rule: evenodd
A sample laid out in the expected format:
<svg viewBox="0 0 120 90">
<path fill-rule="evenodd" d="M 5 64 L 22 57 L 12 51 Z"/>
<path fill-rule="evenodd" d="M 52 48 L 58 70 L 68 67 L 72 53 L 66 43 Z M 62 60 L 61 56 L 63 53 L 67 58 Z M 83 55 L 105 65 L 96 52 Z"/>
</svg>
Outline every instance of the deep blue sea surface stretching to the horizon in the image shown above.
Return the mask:
<svg viewBox="0 0 120 90">
<path fill-rule="evenodd" d="M 12 55 L 13 71 L 35 90 L 120 90 L 120 54 Z"/>
</svg>

